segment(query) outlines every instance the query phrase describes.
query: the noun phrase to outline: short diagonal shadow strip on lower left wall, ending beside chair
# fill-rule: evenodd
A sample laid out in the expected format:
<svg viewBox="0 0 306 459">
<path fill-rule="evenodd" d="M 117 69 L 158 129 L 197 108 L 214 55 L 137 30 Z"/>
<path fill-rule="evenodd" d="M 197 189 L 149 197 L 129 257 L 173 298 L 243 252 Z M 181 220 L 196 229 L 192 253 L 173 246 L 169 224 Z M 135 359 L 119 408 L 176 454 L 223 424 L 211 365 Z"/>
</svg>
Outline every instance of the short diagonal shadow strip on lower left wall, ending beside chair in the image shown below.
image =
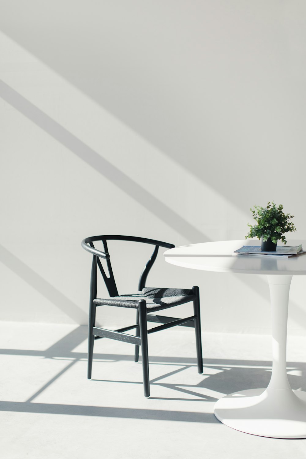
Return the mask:
<svg viewBox="0 0 306 459">
<path fill-rule="evenodd" d="M 23 263 L 19 258 L 9 252 L 5 247 L 0 245 L 0 261 L 11 271 L 13 271 L 22 280 L 27 282 L 31 287 L 37 290 L 47 300 L 55 304 L 67 316 L 78 324 L 87 323 L 87 314 L 79 308 L 77 304 L 72 302 L 68 297 L 63 295 L 47 280 L 35 273 L 27 264 Z"/>
</svg>

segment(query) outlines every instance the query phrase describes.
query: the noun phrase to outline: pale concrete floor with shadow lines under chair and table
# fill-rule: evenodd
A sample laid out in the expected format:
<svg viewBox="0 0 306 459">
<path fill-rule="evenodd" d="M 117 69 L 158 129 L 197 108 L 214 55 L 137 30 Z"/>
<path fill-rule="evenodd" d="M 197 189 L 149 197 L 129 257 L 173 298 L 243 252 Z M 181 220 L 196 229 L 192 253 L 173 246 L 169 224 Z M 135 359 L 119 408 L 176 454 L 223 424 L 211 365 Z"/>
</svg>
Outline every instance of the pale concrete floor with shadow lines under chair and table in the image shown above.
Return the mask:
<svg viewBox="0 0 306 459">
<path fill-rule="evenodd" d="M 192 329 L 150 335 L 146 399 L 130 344 L 96 341 L 86 379 L 86 334 L 71 325 L 0 324 L 1 458 L 306 458 L 304 439 L 245 434 L 213 414 L 224 394 L 267 386 L 270 336 L 203 333 L 199 375 Z M 289 337 L 295 389 L 306 390 L 305 362 L 306 338 Z"/>
</svg>

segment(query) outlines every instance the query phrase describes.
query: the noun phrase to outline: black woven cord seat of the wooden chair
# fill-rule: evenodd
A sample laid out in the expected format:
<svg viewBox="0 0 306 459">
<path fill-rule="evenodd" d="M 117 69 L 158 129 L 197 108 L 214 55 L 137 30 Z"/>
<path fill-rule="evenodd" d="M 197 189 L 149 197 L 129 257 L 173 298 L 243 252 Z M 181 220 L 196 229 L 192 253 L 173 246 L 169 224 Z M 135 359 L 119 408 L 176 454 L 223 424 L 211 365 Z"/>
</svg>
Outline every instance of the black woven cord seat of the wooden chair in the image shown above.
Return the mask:
<svg viewBox="0 0 306 459">
<path fill-rule="evenodd" d="M 96 298 L 94 304 L 96 306 L 118 306 L 121 308 L 137 309 L 139 300 L 145 300 L 147 311 L 156 312 L 194 301 L 194 299 L 195 295 L 193 291 L 188 289 L 145 287 L 142 291 L 130 295 L 120 295 L 118 297 L 103 299 Z"/>
</svg>

